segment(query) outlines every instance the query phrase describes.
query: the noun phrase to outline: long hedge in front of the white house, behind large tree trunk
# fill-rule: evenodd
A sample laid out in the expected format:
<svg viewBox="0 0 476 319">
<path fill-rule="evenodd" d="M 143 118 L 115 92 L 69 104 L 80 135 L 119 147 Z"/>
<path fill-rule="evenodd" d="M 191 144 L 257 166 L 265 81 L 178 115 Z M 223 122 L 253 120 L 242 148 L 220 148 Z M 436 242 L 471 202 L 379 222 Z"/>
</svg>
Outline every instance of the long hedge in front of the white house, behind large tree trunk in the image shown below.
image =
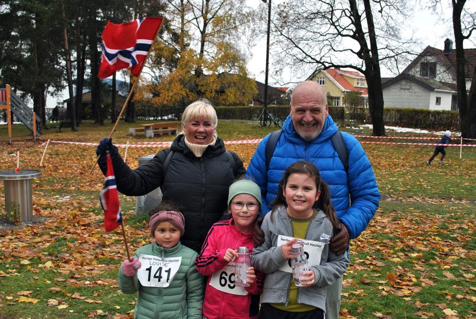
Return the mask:
<svg viewBox="0 0 476 319">
<path fill-rule="evenodd" d="M 371 123 L 367 108 L 349 111 L 350 118 Z M 460 127 L 457 111 L 430 111 L 409 108 L 384 108 L 385 125 L 413 127 L 427 130 L 458 130 Z"/>
</svg>

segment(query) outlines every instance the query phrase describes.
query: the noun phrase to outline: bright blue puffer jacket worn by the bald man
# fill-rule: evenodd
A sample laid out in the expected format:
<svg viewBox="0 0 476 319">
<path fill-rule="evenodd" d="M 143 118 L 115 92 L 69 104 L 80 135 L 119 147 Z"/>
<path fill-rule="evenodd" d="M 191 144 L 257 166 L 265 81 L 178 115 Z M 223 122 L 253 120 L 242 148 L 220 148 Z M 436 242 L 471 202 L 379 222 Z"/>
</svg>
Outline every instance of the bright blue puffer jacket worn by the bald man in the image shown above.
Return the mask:
<svg viewBox="0 0 476 319">
<path fill-rule="evenodd" d="M 362 146 L 352 135 L 342 133 L 349 151 L 348 175 L 330 140 L 337 126 L 328 115 L 321 134 L 311 141 L 302 140 L 294 130 L 291 117 L 283 123 L 283 134 L 266 172 L 265 149 L 269 135 L 258 145 L 251 158 L 246 177 L 261 188 L 262 211 L 266 214 L 269 203 L 276 198 L 278 183 L 284 171 L 294 162 L 309 161 L 319 169 L 322 179 L 329 185 L 332 206 L 339 219 L 349 230 L 350 238 L 356 238 L 367 227 L 379 207 L 380 193 L 372 166 Z M 349 195 L 352 205 L 349 206 Z"/>
</svg>

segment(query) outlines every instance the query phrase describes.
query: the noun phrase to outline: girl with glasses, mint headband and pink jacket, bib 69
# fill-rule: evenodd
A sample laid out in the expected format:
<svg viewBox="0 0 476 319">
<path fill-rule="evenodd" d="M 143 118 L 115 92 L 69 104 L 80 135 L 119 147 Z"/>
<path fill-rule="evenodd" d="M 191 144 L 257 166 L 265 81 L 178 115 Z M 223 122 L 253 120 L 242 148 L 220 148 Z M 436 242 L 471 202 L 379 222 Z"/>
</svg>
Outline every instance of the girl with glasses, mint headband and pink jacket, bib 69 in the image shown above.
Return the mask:
<svg viewBox="0 0 476 319">
<path fill-rule="evenodd" d="M 246 271 L 249 286 L 238 286 L 234 262 L 238 247 L 253 249 L 253 225 L 260 206 L 261 190 L 257 184 L 239 180 L 230 185 L 228 212 L 232 218 L 212 226 L 195 261 L 198 272 L 210 276 L 203 301 L 204 318 L 257 318 L 263 274 L 255 274 L 254 268 L 249 267 Z"/>
</svg>

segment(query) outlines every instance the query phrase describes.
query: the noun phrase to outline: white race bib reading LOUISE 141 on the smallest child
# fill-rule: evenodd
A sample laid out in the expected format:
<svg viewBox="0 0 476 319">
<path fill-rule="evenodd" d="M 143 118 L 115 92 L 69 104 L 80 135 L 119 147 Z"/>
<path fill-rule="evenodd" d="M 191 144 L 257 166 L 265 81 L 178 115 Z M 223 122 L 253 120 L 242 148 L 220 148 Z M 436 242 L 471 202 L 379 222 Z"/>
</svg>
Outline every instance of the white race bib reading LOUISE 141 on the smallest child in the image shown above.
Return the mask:
<svg viewBox="0 0 476 319">
<path fill-rule="evenodd" d="M 164 258 L 141 254 L 139 261 L 141 268 L 137 271 L 137 278 L 143 286 L 168 287 L 179 271 L 182 257 Z"/>
</svg>

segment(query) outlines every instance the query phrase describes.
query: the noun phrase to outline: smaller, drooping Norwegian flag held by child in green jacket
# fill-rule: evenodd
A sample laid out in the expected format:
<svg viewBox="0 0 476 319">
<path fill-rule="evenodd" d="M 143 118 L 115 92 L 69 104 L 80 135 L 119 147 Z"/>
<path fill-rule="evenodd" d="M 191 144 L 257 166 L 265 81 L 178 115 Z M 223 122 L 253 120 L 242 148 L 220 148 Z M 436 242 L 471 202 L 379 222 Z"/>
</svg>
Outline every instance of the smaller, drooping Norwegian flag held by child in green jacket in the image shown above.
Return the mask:
<svg viewBox="0 0 476 319">
<path fill-rule="evenodd" d="M 99 201 L 104 210 L 104 228 L 112 232 L 121 225 L 122 214 L 119 196 L 117 195 L 116 177 L 112 167 L 111 156 L 107 155 L 108 171 L 104 179 L 104 187 L 99 194 Z"/>
</svg>

